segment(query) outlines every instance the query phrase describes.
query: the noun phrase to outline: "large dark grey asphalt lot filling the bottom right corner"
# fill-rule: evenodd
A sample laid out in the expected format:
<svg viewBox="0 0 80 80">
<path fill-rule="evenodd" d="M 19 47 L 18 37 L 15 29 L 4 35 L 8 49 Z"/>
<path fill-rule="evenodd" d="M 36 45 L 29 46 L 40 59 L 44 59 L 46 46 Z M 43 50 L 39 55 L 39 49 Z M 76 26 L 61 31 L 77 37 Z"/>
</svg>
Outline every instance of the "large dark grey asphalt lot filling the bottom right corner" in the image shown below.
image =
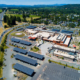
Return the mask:
<svg viewBox="0 0 80 80">
<path fill-rule="evenodd" d="M 45 63 L 31 80 L 79 80 L 79 78 L 77 70 L 64 68 L 55 63 Z"/>
</svg>

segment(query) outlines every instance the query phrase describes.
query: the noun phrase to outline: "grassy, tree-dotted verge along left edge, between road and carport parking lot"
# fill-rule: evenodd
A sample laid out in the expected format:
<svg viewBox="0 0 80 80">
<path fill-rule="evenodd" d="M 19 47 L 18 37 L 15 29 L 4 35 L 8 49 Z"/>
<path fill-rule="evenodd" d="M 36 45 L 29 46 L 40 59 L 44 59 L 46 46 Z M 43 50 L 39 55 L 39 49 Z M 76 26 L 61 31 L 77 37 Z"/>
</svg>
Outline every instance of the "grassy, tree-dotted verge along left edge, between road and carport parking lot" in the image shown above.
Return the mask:
<svg viewBox="0 0 80 80">
<path fill-rule="evenodd" d="M 12 32 L 13 30 L 10 30 L 9 32 L 5 33 L 5 35 L 2 37 L 2 41 L 0 43 L 0 78 L 2 77 L 2 74 L 3 74 L 3 61 L 4 61 L 4 51 L 5 49 L 8 48 L 8 46 L 6 46 L 6 39 L 7 39 L 7 36 L 10 32 Z"/>
</svg>

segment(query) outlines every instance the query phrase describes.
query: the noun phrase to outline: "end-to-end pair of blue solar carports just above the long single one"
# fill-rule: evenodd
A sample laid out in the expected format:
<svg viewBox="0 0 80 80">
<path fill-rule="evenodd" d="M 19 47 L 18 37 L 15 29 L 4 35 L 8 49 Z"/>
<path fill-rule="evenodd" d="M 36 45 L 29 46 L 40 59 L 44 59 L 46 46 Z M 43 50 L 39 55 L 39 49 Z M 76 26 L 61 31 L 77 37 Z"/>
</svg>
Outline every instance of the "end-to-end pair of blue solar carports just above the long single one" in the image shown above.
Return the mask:
<svg viewBox="0 0 80 80">
<path fill-rule="evenodd" d="M 24 49 L 20 49 L 20 48 L 15 47 L 13 50 L 16 51 L 16 52 L 25 54 L 25 55 L 28 54 L 28 56 L 35 57 L 35 58 L 38 58 L 40 60 L 44 59 L 43 55 L 40 55 L 40 54 L 37 54 L 37 53 L 34 53 L 34 52 L 28 52 L 27 50 L 24 50 Z"/>
</svg>

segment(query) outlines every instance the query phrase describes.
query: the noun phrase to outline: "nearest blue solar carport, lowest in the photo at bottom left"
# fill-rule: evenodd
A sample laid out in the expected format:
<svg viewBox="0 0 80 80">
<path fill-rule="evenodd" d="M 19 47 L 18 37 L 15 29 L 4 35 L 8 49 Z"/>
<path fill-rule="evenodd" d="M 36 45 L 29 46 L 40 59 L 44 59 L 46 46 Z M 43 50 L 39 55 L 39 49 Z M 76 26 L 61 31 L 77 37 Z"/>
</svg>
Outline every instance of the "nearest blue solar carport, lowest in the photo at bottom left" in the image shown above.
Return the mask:
<svg viewBox="0 0 80 80">
<path fill-rule="evenodd" d="M 16 69 L 16 70 L 18 70 L 18 71 L 20 71 L 20 72 L 22 72 L 22 73 L 25 73 L 25 74 L 27 74 L 27 75 L 29 75 L 29 76 L 32 76 L 33 73 L 34 73 L 34 70 L 33 70 L 33 69 L 28 68 L 28 67 L 23 66 L 23 65 L 18 64 L 18 63 L 16 63 L 16 64 L 13 66 L 13 68 Z"/>
</svg>

